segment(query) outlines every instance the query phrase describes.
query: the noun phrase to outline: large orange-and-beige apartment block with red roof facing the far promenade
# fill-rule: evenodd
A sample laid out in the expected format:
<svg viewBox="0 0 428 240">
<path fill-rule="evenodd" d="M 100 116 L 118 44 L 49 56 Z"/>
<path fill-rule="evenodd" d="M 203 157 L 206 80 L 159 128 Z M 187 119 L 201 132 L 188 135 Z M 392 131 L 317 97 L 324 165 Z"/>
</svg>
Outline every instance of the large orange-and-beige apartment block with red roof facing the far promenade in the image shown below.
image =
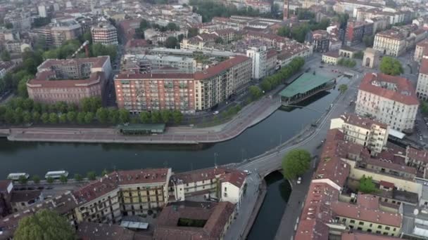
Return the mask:
<svg viewBox="0 0 428 240">
<path fill-rule="evenodd" d="M 118 74 L 114 81 L 118 107 L 191 114 L 244 91 L 251 81 L 251 58 L 236 56 L 194 74 Z"/>
</svg>

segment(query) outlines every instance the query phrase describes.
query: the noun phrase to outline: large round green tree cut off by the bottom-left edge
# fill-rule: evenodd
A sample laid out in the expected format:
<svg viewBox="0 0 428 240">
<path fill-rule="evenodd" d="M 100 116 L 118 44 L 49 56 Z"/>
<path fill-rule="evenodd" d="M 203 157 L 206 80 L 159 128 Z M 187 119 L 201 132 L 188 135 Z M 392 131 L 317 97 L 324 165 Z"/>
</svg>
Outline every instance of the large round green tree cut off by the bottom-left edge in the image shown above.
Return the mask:
<svg viewBox="0 0 428 240">
<path fill-rule="evenodd" d="M 74 240 L 75 238 L 75 230 L 67 218 L 48 209 L 39 210 L 22 218 L 13 234 L 15 240 Z"/>
</svg>

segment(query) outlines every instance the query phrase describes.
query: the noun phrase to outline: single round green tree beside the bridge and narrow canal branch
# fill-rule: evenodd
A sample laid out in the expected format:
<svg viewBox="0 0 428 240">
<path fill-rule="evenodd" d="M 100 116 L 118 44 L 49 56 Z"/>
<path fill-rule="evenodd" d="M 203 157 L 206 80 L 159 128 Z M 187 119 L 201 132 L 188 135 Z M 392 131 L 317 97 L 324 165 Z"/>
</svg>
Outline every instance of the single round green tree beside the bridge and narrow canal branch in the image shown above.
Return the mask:
<svg viewBox="0 0 428 240">
<path fill-rule="evenodd" d="M 310 153 L 305 149 L 293 149 L 282 159 L 284 178 L 296 179 L 303 175 L 310 167 Z"/>
</svg>

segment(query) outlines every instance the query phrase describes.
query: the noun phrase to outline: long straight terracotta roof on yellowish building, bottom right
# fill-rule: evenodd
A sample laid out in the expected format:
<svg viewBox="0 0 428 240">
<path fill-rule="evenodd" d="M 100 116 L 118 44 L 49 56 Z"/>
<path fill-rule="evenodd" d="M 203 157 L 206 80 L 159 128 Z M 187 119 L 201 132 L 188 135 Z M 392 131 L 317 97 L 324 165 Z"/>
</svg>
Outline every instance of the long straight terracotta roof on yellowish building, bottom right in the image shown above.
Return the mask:
<svg viewBox="0 0 428 240">
<path fill-rule="evenodd" d="M 386 213 L 378 209 L 370 209 L 364 206 L 347 204 L 341 201 L 332 203 L 331 207 L 334 214 L 341 217 L 389 225 L 392 227 L 401 227 L 401 222 L 403 220 L 402 215 L 398 213 Z"/>
</svg>

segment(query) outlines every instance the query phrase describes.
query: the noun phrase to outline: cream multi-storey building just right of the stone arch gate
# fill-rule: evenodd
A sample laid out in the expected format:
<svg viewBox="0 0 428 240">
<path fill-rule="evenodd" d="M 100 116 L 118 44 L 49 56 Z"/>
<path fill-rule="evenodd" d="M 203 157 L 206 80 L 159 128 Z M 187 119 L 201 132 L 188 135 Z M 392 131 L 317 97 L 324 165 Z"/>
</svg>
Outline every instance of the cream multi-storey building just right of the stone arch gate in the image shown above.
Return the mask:
<svg viewBox="0 0 428 240">
<path fill-rule="evenodd" d="M 374 36 L 373 48 L 383 54 L 398 57 L 405 53 L 406 41 L 403 33 L 389 29 Z"/>
</svg>

